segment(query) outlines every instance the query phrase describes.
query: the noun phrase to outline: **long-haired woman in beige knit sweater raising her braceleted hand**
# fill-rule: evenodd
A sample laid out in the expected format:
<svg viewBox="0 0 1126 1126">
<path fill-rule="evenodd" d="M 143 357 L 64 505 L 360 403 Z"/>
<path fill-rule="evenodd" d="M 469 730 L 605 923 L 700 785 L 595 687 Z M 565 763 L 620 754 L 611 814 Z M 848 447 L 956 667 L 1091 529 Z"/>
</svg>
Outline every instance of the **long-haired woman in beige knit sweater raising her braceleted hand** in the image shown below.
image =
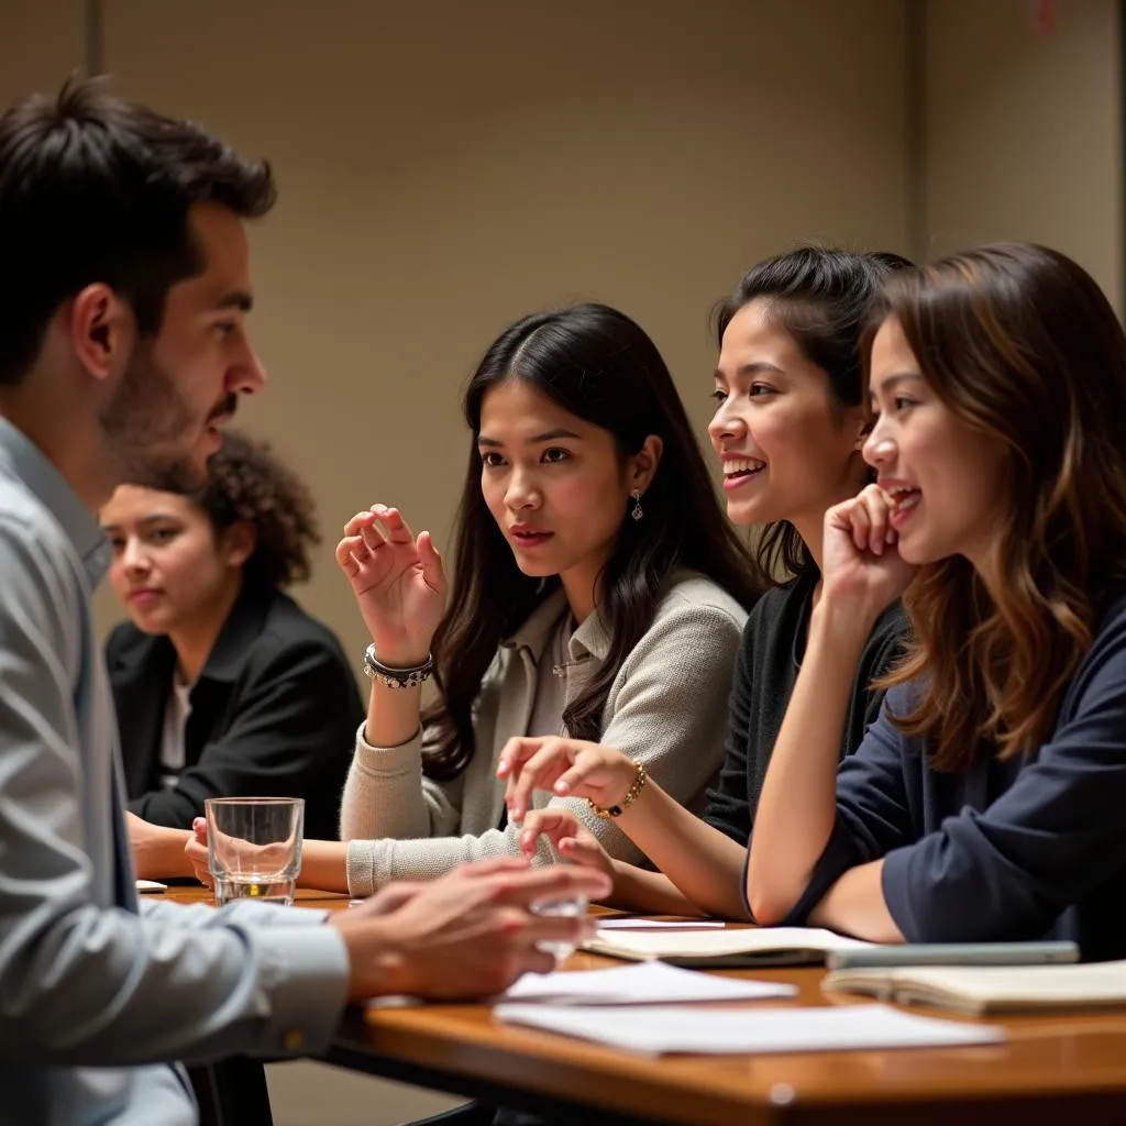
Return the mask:
<svg viewBox="0 0 1126 1126">
<path fill-rule="evenodd" d="M 452 589 L 429 533 L 394 508 L 354 517 L 337 549 L 373 640 L 372 696 L 343 842 L 306 841 L 304 884 L 367 895 L 518 856 L 497 779 L 513 735 L 605 738 L 697 808 L 723 758 L 761 587 L 653 342 L 602 305 L 527 316 L 489 348 L 465 417 Z M 565 804 L 637 859 L 611 821 Z"/>
</svg>

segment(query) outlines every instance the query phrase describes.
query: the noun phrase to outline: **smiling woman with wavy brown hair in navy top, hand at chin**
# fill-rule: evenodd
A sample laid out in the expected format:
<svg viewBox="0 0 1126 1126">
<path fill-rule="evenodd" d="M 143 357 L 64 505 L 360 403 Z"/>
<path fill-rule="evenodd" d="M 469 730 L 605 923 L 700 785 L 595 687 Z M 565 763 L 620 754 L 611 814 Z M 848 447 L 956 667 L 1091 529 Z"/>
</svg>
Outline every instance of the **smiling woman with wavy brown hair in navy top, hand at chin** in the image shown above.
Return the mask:
<svg viewBox="0 0 1126 1126">
<path fill-rule="evenodd" d="M 1126 956 L 1126 336 L 1079 266 L 1015 243 L 893 276 L 869 339 L 877 483 L 825 518 L 749 905 Z M 851 669 L 904 590 L 913 643 L 838 772 Z"/>
</svg>

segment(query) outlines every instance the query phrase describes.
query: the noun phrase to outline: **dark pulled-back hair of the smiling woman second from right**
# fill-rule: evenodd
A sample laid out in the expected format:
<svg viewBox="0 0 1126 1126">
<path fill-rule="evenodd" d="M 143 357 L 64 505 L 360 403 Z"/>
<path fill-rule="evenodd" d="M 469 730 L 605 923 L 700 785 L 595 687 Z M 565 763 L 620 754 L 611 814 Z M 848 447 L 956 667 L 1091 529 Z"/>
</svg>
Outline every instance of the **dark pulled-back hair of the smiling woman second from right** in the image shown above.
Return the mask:
<svg viewBox="0 0 1126 1126">
<path fill-rule="evenodd" d="M 890 252 L 801 247 L 767 258 L 743 275 L 713 314 L 716 347 L 735 314 L 752 301 L 765 301 L 767 314 L 802 355 L 829 378 L 834 409 L 864 402 L 860 337 L 884 278 L 911 263 Z M 805 542 L 788 520 L 765 525 L 758 562 L 767 574 L 797 574 L 813 565 Z"/>
</svg>

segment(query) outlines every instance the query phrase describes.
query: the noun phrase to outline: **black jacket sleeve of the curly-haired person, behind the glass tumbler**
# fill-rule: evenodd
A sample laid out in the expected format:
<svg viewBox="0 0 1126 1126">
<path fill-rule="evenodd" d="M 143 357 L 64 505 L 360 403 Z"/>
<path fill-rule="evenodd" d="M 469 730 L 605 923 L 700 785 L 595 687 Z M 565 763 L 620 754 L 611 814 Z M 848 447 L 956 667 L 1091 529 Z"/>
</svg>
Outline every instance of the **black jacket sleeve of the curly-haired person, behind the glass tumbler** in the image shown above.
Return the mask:
<svg viewBox="0 0 1126 1126">
<path fill-rule="evenodd" d="M 171 789 L 151 790 L 129 810 L 159 825 L 187 828 L 208 797 L 303 797 L 350 749 L 361 707 L 351 672 L 327 641 L 286 645 L 248 670 L 238 716 Z"/>
</svg>

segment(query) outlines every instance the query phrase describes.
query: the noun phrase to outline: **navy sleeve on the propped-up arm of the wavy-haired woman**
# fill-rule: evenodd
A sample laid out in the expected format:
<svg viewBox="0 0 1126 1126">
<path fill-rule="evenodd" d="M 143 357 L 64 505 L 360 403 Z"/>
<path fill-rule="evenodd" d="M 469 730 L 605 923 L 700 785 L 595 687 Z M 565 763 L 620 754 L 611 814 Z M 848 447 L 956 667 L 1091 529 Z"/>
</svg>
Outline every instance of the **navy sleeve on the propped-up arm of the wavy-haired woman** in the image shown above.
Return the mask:
<svg viewBox="0 0 1126 1126">
<path fill-rule="evenodd" d="M 886 856 L 913 839 L 914 820 L 903 774 L 904 739 L 888 715 L 890 707 L 902 707 L 901 691 L 888 694 L 857 752 L 841 762 L 832 834 L 783 926 L 804 926 L 810 912 L 849 868 Z"/>
</svg>

